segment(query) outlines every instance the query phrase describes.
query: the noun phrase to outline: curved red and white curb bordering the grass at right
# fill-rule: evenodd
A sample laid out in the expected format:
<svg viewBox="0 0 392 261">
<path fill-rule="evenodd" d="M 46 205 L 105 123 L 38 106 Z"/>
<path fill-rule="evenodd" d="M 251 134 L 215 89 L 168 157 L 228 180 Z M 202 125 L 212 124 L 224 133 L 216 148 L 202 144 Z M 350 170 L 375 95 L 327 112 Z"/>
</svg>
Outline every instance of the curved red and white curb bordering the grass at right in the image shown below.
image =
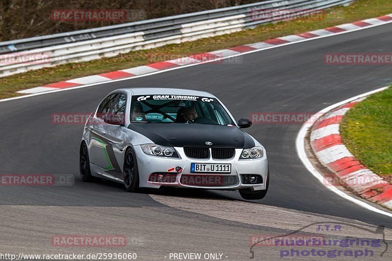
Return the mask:
<svg viewBox="0 0 392 261">
<path fill-rule="evenodd" d="M 346 103 L 320 117 L 313 125 L 310 142 L 319 161 L 335 173 L 335 180 L 361 197 L 392 209 L 392 185 L 355 159 L 340 136 L 344 114 L 365 98 Z"/>
</svg>

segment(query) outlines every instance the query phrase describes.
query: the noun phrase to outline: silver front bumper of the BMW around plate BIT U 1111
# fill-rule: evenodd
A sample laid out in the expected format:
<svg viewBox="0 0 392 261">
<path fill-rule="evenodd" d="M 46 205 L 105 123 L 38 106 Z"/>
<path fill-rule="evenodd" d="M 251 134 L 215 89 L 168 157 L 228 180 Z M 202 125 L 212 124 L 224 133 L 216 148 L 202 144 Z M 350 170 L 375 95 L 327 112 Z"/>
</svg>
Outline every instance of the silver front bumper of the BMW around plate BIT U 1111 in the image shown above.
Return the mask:
<svg viewBox="0 0 392 261">
<path fill-rule="evenodd" d="M 267 184 L 267 173 L 268 173 L 268 160 L 266 151 L 264 155 L 259 159 L 249 160 L 238 160 L 243 149 L 235 149 L 235 155 L 231 159 L 227 160 L 216 160 L 212 159 L 192 159 L 188 158 L 182 147 L 175 147 L 179 158 L 167 158 L 150 156 L 143 152 L 140 145 L 133 147 L 136 152 L 138 169 L 139 169 L 139 186 L 142 188 L 155 188 L 158 189 L 162 186 L 175 187 L 175 188 L 196 188 L 196 189 L 208 189 L 208 190 L 238 190 L 251 188 L 253 190 L 265 190 Z M 210 153 L 211 155 L 211 153 Z M 192 173 L 191 163 L 218 163 L 218 164 L 231 164 L 231 173 L 220 174 L 220 173 Z M 175 169 L 180 167 L 182 171 L 178 172 Z M 163 183 L 157 181 L 148 181 L 148 178 L 153 173 L 170 173 L 176 174 L 175 178 L 170 183 Z M 260 184 L 244 184 L 241 174 L 256 174 L 262 177 L 262 183 Z M 189 180 L 189 177 L 195 175 L 204 176 L 204 180 L 222 180 L 225 182 L 215 185 L 210 183 L 207 185 L 189 185 L 184 184 L 185 178 Z M 230 180 L 230 182 L 226 182 Z M 203 183 L 202 183 L 203 184 Z M 205 183 L 204 183 L 205 184 Z M 229 184 L 229 185 L 227 185 Z"/>
</svg>

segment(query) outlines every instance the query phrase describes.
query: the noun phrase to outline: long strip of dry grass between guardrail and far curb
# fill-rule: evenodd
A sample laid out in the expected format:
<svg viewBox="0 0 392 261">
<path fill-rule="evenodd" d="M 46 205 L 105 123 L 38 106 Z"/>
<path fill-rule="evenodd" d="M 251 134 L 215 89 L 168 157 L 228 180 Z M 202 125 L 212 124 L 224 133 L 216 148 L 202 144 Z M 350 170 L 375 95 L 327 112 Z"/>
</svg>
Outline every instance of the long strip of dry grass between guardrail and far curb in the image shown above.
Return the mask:
<svg viewBox="0 0 392 261">
<path fill-rule="evenodd" d="M 150 63 L 147 58 L 150 54 L 190 55 L 208 52 L 338 24 L 356 22 L 389 13 L 392 13 L 391 0 L 358 0 L 347 7 L 340 6 L 327 10 L 322 19 L 297 19 L 277 24 L 261 25 L 254 29 L 205 38 L 194 42 L 186 42 L 179 45 L 167 45 L 149 50 L 131 51 L 111 58 L 28 71 L 0 78 L 0 98 L 18 96 L 20 94 L 15 93 L 16 91 L 53 82 L 146 65 Z"/>
</svg>

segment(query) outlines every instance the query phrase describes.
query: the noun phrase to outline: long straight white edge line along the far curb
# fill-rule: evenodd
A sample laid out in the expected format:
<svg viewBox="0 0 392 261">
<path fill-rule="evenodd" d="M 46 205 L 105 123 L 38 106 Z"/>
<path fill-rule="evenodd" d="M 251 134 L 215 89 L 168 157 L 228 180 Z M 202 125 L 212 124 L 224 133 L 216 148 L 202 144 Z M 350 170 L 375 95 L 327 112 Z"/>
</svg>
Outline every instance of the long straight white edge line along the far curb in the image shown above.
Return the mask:
<svg viewBox="0 0 392 261">
<path fill-rule="evenodd" d="M 361 20 L 361 21 L 363 21 L 363 20 Z M 361 21 L 357 21 L 357 22 L 361 22 Z M 356 22 L 353 22 L 353 23 L 356 23 Z M 70 87 L 70 88 L 63 88 L 63 89 L 59 89 L 59 90 L 53 90 L 53 91 L 49 91 L 49 92 L 43 92 L 43 93 L 37 93 L 37 94 L 22 95 L 22 96 L 17 96 L 17 97 L 12 97 L 12 98 L 0 99 L 0 102 L 2 102 L 2 101 L 9 101 L 9 100 L 16 100 L 16 99 L 22 99 L 22 98 L 28 98 L 28 97 L 44 95 L 44 94 L 51 94 L 51 93 L 56 93 L 56 92 L 70 91 L 70 90 L 81 89 L 81 88 L 90 87 L 90 86 L 94 86 L 94 85 L 100 85 L 100 84 L 106 84 L 106 83 L 130 80 L 130 79 L 134 79 L 134 78 L 146 77 L 146 76 L 150 76 L 150 75 L 154 75 L 154 74 L 162 73 L 162 72 L 166 72 L 166 71 L 173 71 L 173 70 L 178 70 L 178 69 L 187 68 L 187 67 L 191 67 L 191 66 L 196 66 L 196 65 L 201 65 L 201 64 L 221 61 L 221 60 L 224 60 L 224 59 L 237 57 L 237 56 L 240 56 L 240 55 L 245 55 L 245 54 L 249 54 L 249 53 L 253 53 L 253 52 L 259 52 L 259 51 L 264 51 L 264 50 L 268 50 L 268 49 L 272 49 L 272 48 L 283 47 L 283 46 L 288 46 L 288 45 L 294 45 L 294 44 L 298 44 L 298 43 L 302 43 L 302 42 L 313 41 L 313 40 L 317 40 L 317 39 L 320 39 L 320 38 L 331 37 L 331 36 L 345 34 L 345 33 L 351 33 L 351 32 L 355 32 L 355 31 L 365 30 L 365 29 L 376 27 L 376 26 L 381 26 L 381 25 L 391 24 L 391 23 L 392 23 L 392 21 L 388 21 L 388 22 L 385 22 L 385 23 L 382 23 L 382 24 L 373 24 L 373 25 L 369 25 L 367 27 L 361 27 L 361 28 L 358 28 L 358 29 L 350 30 L 350 31 L 344 31 L 344 32 L 340 32 L 340 33 L 330 34 L 330 35 L 324 35 L 324 36 L 308 38 L 308 39 L 304 39 L 304 40 L 301 40 L 301 41 L 290 42 L 290 43 L 286 43 L 286 44 L 282 44 L 282 45 L 271 46 L 271 47 L 266 47 L 266 48 L 256 49 L 256 50 L 251 50 L 251 51 L 242 52 L 242 53 L 239 53 L 239 54 L 234 54 L 234 55 L 230 55 L 230 56 L 226 56 L 226 57 L 220 57 L 220 58 L 217 58 L 217 59 L 214 59 L 214 60 L 211 60 L 211 61 L 205 61 L 205 62 L 200 62 L 200 63 L 196 63 L 196 64 L 188 64 L 188 65 L 184 65 L 184 66 L 178 66 L 178 67 L 174 67 L 174 68 L 170 68 L 170 69 L 166 69 L 166 70 L 162 70 L 162 71 L 154 71 L 154 72 L 149 72 L 149 73 L 146 73 L 146 74 L 141 74 L 141 75 L 137 75 L 137 76 L 131 76 L 131 77 L 122 78 L 122 79 L 116 79 L 116 80 L 105 81 L 105 82 L 98 82 L 98 83 L 91 83 L 91 84 L 86 84 L 86 85 L 81 85 L 81 86 L 75 86 L 75 87 Z M 350 24 L 350 23 L 348 23 L 348 24 Z M 337 25 L 335 25 L 335 26 L 337 26 Z M 260 42 L 260 43 L 263 43 L 263 42 Z M 254 43 L 254 44 L 256 44 L 256 43 Z M 146 66 L 148 66 L 148 65 L 146 65 Z M 129 68 L 129 69 L 131 69 L 131 68 Z M 125 70 L 125 69 L 123 69 L 123 70 Z M 119 71 L 121 71 L 121 70 L 119 70 Z M 90 76 L 90 75 L 87 75 L 87 76 Z"/>
</svg>

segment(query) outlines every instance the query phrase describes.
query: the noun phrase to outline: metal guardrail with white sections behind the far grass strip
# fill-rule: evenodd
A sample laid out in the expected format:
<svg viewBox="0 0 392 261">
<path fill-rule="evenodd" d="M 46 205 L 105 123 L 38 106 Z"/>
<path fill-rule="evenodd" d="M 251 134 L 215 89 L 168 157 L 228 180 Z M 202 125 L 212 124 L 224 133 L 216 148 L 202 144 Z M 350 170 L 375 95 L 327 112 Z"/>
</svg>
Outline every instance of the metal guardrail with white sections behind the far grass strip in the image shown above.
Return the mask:
<svg viewBox="0 0 392 261">
<path fill-rule="evenodd" d="M 353 1 L 269 0 L 134 23 L 1 42 L 0 77 L 68 62 L 89 61 L 132 50 L 179 44 L 232 33 L 259 24 L 304 16 Z M 14 63 L 4 62 L 4 59 L 9 59 L 7 54 L 12 56 Z M 26 55 L 29 57 L 28 62 L 25 61 Z"/>
</svg>

